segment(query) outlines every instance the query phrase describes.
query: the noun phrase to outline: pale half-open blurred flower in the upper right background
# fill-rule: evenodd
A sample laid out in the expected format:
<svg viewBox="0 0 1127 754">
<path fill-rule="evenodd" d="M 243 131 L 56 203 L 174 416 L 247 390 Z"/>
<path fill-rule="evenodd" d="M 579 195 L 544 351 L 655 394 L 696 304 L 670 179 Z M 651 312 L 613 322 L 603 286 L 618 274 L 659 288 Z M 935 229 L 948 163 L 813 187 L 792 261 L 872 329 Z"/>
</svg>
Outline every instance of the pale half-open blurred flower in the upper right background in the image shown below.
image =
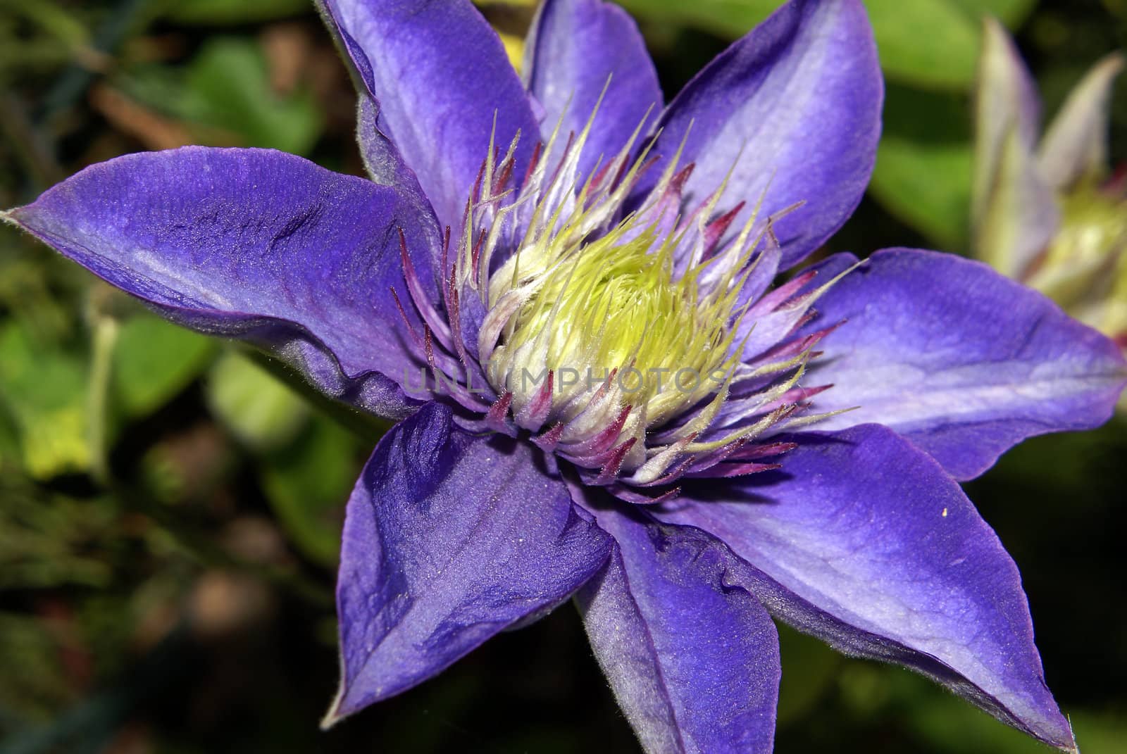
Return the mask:
<svg viewBox="0 0 1127 754">
<path fill-rule="evenodd" d="M 1122 56 L 1086 73 L 1040 138 L 1020 54 L 987 21 L 977 103 L 974 249 L 983 260 L 1127 344 L 1127 203 L 1108 165 L 1108 110 Z"/>
</svg>

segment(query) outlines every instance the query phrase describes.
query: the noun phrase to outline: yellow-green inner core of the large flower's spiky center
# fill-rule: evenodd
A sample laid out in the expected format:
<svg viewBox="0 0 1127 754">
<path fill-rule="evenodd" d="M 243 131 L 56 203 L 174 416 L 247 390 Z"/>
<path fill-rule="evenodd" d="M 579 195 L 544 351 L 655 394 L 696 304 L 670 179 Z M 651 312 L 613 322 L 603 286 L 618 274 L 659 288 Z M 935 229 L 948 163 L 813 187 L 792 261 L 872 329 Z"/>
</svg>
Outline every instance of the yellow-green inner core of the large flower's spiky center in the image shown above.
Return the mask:
<svg viewBox="0 0 1127 754">
<path fill-rule="evenodd" d="M 547 371 L 553 408 L 565 415 L 612 381 L 654 425 L 725 384 L 738 286 L 702 290 L 707 264 L 677 275 L 678 238 L 636 225 L 628 219 L 589 243 L 549 238 L 495 275 L 495 291 L 531 291 L 488 371 L 514 406 L 535 399 Z"/>
</svg>

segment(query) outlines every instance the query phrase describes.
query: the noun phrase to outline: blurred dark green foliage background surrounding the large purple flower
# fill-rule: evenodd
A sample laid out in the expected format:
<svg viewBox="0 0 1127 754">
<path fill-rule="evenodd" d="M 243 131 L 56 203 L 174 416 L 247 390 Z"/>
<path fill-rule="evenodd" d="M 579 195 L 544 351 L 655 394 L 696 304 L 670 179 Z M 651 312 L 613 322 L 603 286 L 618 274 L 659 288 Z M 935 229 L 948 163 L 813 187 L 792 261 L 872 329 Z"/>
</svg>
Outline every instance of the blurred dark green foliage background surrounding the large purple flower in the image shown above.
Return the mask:
<svg viewBox="0 0 1127 754">
<path fill-rule="evenodd" d="M 480 5 L 509 33 L 531 17 Z M 672 94 L 778 2 L 625 5 Z M 876 203 L 841 238 L 961 251 L 980 14 L 1019 33 L 1051 112 L 1121 38 L 1127 7 L 867 6 L 885 139 Z M 0 0 L 0 83 L 2 206 L 183 143 L 361 171 L 347 73 L 305 0 Z M 1121 160 L 1127 99 L 1113 123 Z M 0 230 L 0 754 L 635 751 L 567 610 L 317 730 L 336 682 L 343 505 L 379 427 L 275 367 Z M 1121 423 L 1040 438 L 970 489 L 1023 568 L 1049 683 L 1088 754 L 1127 751 L 1125 438 Z M 1044 751 L 921 677 L 781 633 L 780 752 Z"/>
</svg>

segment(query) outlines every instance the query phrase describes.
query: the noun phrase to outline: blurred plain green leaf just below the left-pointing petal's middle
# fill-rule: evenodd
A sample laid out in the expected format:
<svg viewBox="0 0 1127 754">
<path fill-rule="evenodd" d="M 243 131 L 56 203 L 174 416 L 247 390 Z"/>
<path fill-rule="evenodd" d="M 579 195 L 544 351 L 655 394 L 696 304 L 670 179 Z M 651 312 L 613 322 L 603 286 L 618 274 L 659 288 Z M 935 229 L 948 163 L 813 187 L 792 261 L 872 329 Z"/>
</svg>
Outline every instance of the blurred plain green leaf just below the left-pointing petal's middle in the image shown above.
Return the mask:
<svg viewBox="0 0 1127 754">
<path fill-rule="evenodd" d="M 114 351 L 113 381 L 130 417 L 152 414 L 184 390 L 215 353 L 210 338 L 150 314 L 122 323 Z"/>
</svg>

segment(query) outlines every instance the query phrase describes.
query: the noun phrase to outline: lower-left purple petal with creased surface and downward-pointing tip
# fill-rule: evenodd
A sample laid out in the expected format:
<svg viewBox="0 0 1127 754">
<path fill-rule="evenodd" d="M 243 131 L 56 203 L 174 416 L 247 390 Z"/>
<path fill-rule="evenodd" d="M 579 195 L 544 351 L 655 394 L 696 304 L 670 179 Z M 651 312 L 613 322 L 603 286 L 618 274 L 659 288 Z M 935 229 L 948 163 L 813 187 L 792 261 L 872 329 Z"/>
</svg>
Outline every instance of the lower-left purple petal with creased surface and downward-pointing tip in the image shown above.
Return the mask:
<svg viewBox="0 0 1127 754">
<path fill-rule="evenodd" d="M 380 441 L 345 517 L 343 677 L 325 725 L 551 610 L 603 567 L 611 538 L 540 463 L 529 445 L 454 428 L 433 402 Z"/>
</svg>

